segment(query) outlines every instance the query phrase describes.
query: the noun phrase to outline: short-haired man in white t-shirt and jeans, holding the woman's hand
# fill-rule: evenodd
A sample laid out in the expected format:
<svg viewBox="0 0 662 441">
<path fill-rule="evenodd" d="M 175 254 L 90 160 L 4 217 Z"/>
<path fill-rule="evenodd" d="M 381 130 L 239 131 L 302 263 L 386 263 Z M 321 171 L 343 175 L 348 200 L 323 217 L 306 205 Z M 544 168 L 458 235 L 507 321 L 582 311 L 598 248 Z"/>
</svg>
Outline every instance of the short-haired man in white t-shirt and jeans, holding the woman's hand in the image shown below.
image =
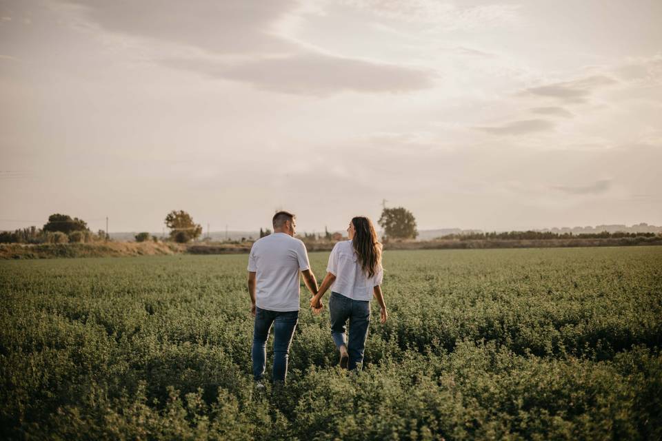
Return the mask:
<svg viewBox="0 0 662 441">
<path fill-rule="evenodd" d="M 308 252 L 303 242 L 294 238 L 297 227 L 294 214 L 277 212 L 272 223 L 274 234 L 257 240 L 248 257 L 250 312 L 255 317 L 251 353 L 253 378 L 260 387 L 263 386 L 266 342 L 272 325 L 272 381 L 285 382 L 290 343 L 299 321 L 299 271 L 310 293 L 317 294 L 317 280 L 308 263 Z"/>
</svg>

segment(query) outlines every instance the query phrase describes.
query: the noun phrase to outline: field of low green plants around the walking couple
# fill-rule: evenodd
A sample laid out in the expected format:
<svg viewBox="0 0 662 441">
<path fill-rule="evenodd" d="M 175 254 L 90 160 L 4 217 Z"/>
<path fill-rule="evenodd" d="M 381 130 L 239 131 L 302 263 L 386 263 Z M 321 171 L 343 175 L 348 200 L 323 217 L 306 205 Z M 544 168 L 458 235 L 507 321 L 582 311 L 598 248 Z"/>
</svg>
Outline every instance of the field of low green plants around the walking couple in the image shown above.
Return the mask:
<svg viewBox="0 0 662 441">
<path fill-rule="evenodd" d="M 303 294 L 263 393 L 246 264 L 0 261 L 0 438 L 662 439 L 662 247 L 386 252 L 363 371 Z"/>
</svg>

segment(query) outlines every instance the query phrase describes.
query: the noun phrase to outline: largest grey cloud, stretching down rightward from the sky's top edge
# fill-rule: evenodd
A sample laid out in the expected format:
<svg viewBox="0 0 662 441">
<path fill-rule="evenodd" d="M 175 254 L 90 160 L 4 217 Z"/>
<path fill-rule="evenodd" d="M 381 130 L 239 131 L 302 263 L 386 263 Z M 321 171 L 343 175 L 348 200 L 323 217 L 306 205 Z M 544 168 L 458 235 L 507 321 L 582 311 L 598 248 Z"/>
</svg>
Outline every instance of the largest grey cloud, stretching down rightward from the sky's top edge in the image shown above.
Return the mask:
<svg viewBox="0 0 662 441">
<path fill-rule="evenodd" d="M 433 85 L 431 72 L 340 57 L 280 37 L 274 30 L 299 8 L 294 0 L 208 0 L 185 6 L 172 0 L 72 1 L 113 32 L 198 50 L 157 60 L 162 65 L 263 90 L 321 96 L 345 90 L 407 92 Z"/>
</svg>

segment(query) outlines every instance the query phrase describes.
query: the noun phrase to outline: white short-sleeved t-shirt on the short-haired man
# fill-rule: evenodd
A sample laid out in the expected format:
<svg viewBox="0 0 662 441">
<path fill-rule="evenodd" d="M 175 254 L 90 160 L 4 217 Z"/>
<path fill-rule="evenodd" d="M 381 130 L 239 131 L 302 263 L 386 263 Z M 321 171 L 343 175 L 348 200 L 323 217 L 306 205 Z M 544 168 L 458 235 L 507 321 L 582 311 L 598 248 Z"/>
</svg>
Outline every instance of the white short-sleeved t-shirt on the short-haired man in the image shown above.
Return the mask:
<svg viewBox="0 0 662 441">
<path fill-rule="evenodd" d="M 269 311 L 299 311 L 299 271 L 310 268 L 301 240 L 274 233 L 250 249 L 248 271 L 255 272 L 255 304 Z"/>
</svg>

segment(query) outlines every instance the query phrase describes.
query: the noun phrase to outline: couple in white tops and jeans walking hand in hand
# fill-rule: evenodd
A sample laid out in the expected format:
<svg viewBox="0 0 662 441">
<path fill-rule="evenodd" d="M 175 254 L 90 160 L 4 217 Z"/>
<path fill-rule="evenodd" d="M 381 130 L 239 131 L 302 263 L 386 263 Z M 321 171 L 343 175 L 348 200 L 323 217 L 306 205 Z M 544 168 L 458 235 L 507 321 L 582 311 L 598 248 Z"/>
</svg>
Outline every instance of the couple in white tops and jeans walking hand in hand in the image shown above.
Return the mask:
<svg viewBox="0 0 662 441">
<path fill-rule="evenodd" d="M 257 240 L 248 258 L 248 293 L 251 314 L 255 318 L 252 343 L 254 380 L 262 384 L 266 342 L 273 328 L 272 381 L 285 382 L 290 344 L 299 321 L 299 272 L 312 294 L 310 307 L 314 314 L 323 310 L 322 297 L 331 289 L 331 337 L 339 351 L 340 366 L 360 368 L 373 296 L 381 307 L 381 322 L 388 318 L 380 286 L 383 279 L 382 248 L 372 222 L 362 216 L 352 218 L 347 229 L 349 240 L 333 247 L 327 274 L 319 287 L 305 245 L 294 238 L 297 227 L 294 214 L 277 212 L 272 223 L 274 233 Z M 346 331 L 348 322 L 349 332 Z"/>
</svg>

